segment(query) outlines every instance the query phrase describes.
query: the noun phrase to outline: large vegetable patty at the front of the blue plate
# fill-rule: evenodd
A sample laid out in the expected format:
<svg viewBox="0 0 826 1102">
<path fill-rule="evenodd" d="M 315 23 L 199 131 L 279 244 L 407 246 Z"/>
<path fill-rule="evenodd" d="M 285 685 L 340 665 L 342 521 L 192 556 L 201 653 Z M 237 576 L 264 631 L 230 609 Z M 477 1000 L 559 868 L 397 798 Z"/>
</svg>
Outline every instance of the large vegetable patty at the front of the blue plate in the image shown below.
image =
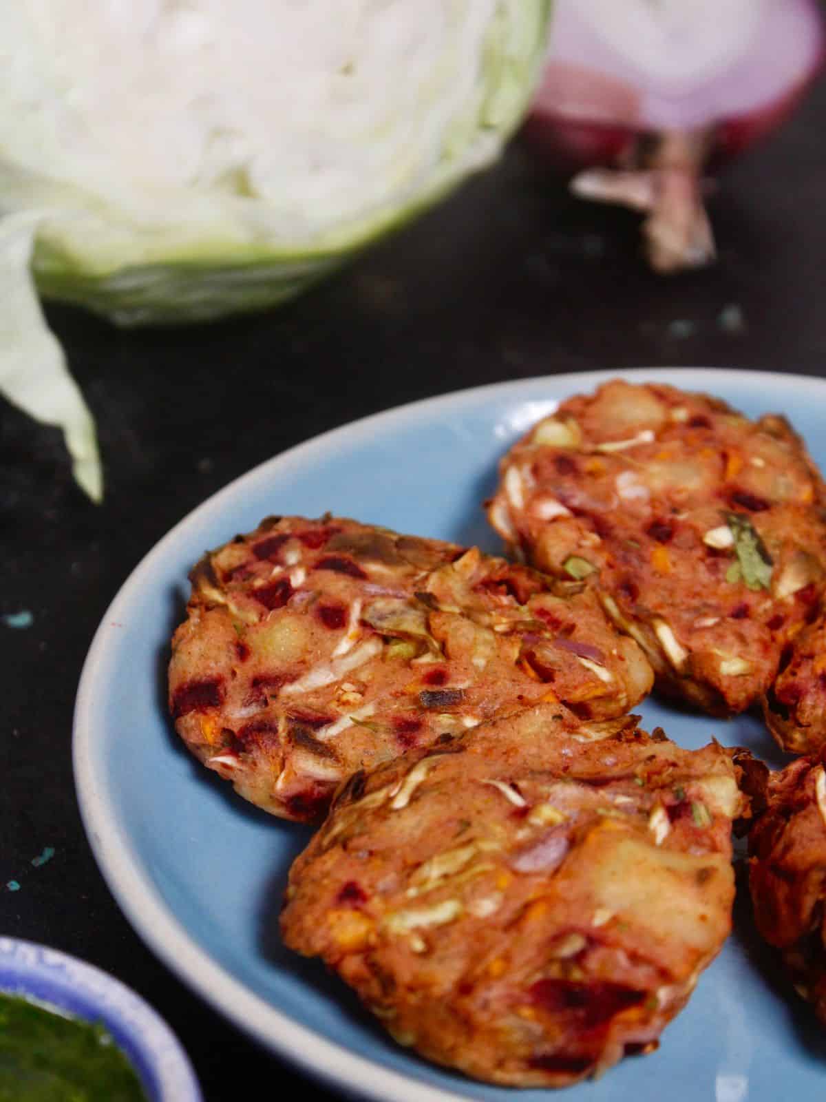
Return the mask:
<svg viewBox="0 0 826 1102">
<path fill-rule="evenodd" d="M 741 797 L 717 744 L 540 704 L 356 774 L 294 863 L 282 933 L 393 1037 L 563 1087 L 649 1051 L 730 929 Z"/>
</svg>

